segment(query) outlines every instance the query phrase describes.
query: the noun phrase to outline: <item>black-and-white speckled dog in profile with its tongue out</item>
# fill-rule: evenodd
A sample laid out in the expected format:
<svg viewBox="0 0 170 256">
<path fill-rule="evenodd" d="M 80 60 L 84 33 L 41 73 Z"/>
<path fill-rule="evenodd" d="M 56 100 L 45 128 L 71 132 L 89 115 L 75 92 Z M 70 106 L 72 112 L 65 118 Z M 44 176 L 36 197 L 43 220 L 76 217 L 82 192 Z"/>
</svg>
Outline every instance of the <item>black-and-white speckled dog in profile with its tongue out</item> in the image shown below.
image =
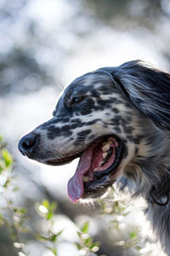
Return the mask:
<svg viewBox="0 0 170 256">
<path fill-rule="evenodd" d="M 52 166 L 80 158 L 68 182 L 73 202 L 115 182 L 142 196 L 170 255 L 170 74 L 142 61 L 99 68 L 65 88 L 53 116 L 20 139 L 20 152 Z"/>
</svg>

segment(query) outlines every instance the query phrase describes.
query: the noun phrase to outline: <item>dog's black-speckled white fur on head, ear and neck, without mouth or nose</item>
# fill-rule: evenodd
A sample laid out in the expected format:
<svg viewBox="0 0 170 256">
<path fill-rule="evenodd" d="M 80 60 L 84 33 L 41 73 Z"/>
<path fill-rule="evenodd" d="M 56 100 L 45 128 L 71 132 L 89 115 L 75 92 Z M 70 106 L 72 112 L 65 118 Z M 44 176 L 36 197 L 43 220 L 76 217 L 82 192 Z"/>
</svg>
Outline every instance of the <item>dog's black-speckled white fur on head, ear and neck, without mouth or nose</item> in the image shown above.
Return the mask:
<svg viewBox="0 0 170 256">
<path fill-rule="evenodd" d="M 117 185 L 144 198 L 157 240 L 170 255 L 170 204 L 160 207 L 150 201 L 151 188 L 160 184 L 170 165 L 168 73 L 141 61 L 86 73 L 65 88 L 54 118 L 31 133 L 37 143 L 25 153 L 42 163 L 82 152 L 99 137 L 120 137 L 127 152 Z"/>
</svg>

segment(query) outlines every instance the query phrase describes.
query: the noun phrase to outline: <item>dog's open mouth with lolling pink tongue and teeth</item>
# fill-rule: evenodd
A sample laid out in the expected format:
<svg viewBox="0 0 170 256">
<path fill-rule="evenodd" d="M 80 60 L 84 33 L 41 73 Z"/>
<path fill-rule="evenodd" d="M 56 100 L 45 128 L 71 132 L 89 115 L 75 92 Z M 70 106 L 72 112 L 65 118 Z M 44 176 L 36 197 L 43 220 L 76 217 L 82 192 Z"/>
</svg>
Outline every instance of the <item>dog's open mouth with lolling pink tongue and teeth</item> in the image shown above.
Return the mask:
<svg viewBox="0 0 170 256">
<path fill-rule="evenodd" d="M 80 154 L 59 160 L 48 160 L 46 164 L 60 166 L 80 157 L 77 170 L 68 182 L 68 195 L 73 202 L 80 198 L 103 195 L 116 181 L 125 146 L 115 135 L 100 137 Z"/>
</svg>

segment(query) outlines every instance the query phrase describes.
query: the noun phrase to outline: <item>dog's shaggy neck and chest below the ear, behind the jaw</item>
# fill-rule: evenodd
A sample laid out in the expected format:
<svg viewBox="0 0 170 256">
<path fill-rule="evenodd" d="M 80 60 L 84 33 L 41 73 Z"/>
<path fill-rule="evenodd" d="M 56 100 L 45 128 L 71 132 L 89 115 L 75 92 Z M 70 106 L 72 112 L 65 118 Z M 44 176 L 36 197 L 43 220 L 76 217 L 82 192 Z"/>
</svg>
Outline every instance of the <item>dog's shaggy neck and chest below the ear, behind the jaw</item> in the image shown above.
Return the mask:
<svg viewBox="0 0 170 256">
<path fill-rule="evenodd" d="M 162 249 L 170 256 L 170 137 L 155 131 L 148 141 L 152 143 L 151 156 L 130 163 L 118 183 L 122 190 L 128 189 L 135 197 L 141 195 L 147 202 L 146 217 L 156 240 L 161 241 Z"/>
</svg>

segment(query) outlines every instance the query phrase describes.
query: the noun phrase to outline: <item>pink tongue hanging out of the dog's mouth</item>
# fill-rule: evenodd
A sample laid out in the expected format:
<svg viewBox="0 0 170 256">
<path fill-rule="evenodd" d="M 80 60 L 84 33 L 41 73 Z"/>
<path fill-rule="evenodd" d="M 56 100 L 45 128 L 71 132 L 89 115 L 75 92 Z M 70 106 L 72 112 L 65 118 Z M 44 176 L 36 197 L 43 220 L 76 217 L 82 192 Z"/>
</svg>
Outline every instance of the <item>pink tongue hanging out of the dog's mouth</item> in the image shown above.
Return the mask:
<svg viewBox="0 0 170 256">
<path fill-rule="evenodd" d="M 82 154 L 78 162 L 77 171 L 68 182 L 68 185 L 67 185 L 68 195 L 71 201 L 74 203 L 76 203 L 84 194 L 83 176 L 86 172 L 88 172 L 91 166 L 91 158 L 92 158 L 92 148 L 88 148 L 88 150 L 86 150 Z"/>
</svg>

